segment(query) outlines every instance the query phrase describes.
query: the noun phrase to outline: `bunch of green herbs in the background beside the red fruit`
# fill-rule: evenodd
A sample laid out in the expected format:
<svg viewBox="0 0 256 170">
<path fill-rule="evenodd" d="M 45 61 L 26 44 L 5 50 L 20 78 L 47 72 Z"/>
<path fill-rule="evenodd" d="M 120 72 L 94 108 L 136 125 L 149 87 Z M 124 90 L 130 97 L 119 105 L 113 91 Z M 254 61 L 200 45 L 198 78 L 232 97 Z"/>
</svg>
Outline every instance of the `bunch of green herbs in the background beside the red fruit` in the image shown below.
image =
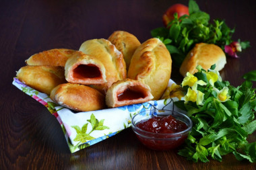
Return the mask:
<svg viewBox="0 0 256 170">
<path fill-rule="evenodd" d="M 189 15 L 178 18 L 177 13 L 174 13 L 174 19 L 167 27 L 156 28 L 151 34 L 162 40 L 172 56 L 173 66 L 179 68 L 197 43 L 216 44 L 224 50 L 224 46 L 232 42 L 234 28 L 229 28 L 222 19 L 214 19 L 211 23 L 210 15 L 201 11 L 195 1 L 190 0 Z M 249 42 L 240 44 L 243 49 L 249 47 Z"/>
</svg>

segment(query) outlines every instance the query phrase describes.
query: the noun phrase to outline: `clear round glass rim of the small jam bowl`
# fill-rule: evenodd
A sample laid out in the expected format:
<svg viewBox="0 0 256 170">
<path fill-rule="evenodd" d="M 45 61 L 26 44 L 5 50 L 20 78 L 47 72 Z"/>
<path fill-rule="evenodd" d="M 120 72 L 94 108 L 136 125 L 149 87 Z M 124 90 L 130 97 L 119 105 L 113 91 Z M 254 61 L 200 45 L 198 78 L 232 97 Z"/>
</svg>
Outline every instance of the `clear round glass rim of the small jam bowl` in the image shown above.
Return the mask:
<svg viewBox="0 0 256 170">
<path fill-rule="evenodd" d="M 143 111 L 143 112 L 152 112 L 152 111 L 155 111 L 155 110 L 154 110 L 154 109 L 153 109 L 153 110 L 145 110 L 145 111 Z M 187 116 L 186 114 L 183 114 L 183 113 L 181 113 L 181 112 L 177 112 L 177 111 L 173 111 L 173 110 L 164 110 L 164 111 L 175 112 L 175 113 L 178 113 L 179 115 L 185 117 L 185 118 L 189 121 L 189 124 L 187 124 L 187 123 L 184 122 L 185 124 L 187 124 L 188 127 L 187 127 L 185 130 L 181 131 L 181 132 L 174 132 L 174 133 L 155 133 L 155 132 L 148 132 L 148 131 L 146 131 L 146 130 L 142 130 L 141 128 L 138 128 L 138 127 L 135 125 L 135 123 L 134 123 L 134 118 L 135 118 L 135 116 L 137 116 L 137 115 L 143 113 L 143 112 L 139 112 L 139 113 L 135 114 L 135 115 L 133 116 L 133 118 L 131 119 L 131 128 L 133 129 L 133 131 L 134 131 L 136 134 L 138 134 L 138 135 L 140 135 L 140 136 L 143 136 L 143 137 L 146 137 L 146 138 L 156 138 L 156 139 L 161 139 L 161 140 L 168 140 L 168 139 L 170 139 L 170 138 L 175 138 L 175 137 L 177 137 L 177 136 L 182 136 L 183 134 L 189 133 L 189 131 L 192 129 L 192 126 L 193 126 L 193 122 L 192 122 L 192 120 L 189 118 L 189 116 Z M 168 116 L 168 115 L 170 115 L 170 114 L 166 114 L 166 116 Z M 150 116 L 150 118 L 151 118 L 151 117 L 152 117 L 152 116 Z M 175 118 L 175 116 L 174 116 L 174 118 Z M 139 132 L 137 132 L 137 130 L 139 130 Z M 141 134 L 140 132 L 143 132 L 143 134 Z M 147 136 L 147 135 L 150 135 L 150 136 Z M 158 137 L 152 136 L 152 135 L 157 135 Z M 170 136 L 170 137 L 168 137 L 168 138 L 160 138 L 161 136 L 164 137 L 164 136 L 166 136 L 166 135 L 168 135 L 168 136 Z"/>
</svg>

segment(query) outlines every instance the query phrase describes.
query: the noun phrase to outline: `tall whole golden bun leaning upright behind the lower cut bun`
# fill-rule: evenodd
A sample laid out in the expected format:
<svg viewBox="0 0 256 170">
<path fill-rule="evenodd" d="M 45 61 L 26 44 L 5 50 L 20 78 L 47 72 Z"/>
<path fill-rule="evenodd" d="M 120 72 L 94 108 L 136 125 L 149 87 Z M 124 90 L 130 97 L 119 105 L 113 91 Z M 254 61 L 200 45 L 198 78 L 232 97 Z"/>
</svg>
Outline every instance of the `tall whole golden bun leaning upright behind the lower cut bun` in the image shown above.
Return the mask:
<svg viewBox="0 0 256 170">
<path fill-rule="evenodd" d="M 150 86 L 157 100 L 168 85 L 171 71 L 172 59 L 166 46 L 158 38 L 151 38 L 135 50 L 127 77 Z"/>
</svg>

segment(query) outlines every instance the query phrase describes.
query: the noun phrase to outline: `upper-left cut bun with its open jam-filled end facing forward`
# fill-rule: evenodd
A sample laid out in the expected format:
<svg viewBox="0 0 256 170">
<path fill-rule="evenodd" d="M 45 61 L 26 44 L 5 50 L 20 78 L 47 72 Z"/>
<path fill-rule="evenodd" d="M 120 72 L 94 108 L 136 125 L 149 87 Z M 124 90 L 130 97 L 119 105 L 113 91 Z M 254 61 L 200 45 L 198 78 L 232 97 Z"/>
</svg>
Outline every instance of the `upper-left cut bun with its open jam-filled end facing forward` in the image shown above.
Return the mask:
<svg viewBox="0 0 256 170">
<path fill-rule="evenodd" d="M 69 83 L 102 84 L 106 83 L 106 70 L 100 60 L 79 51 L 67 59 L 65 77 Z"/>
</svg>

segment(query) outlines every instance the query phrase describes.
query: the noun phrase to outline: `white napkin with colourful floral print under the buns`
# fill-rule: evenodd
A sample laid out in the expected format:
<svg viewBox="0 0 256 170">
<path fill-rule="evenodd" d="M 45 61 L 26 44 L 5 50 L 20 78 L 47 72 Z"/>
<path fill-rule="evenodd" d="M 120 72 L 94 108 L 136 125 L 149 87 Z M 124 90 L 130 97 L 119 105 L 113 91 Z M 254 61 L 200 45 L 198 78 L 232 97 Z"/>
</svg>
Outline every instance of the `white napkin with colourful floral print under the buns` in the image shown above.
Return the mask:
<svg viewBox="0 0 256 170">
<path fill-rule="evenodd" d="M 173 83 L 170 79 L 168 86 Z M 71 153 L 96 144 L 114 136 L 125 128 L 129 128 L 132 117 L 139 112 L 150 109 L 177 110 L 173 105 L 173 101 L 179 100 L 177 97 L 173 97 L 172 99 L 148 101 L 146 103 L 125 105 L 119 108 L 75 112 L 54 103 L 49 95 L 24 85 L 17 78 L 13 79 L 13 85 L 42 103 L 57 118 Z"/>
</svg>

